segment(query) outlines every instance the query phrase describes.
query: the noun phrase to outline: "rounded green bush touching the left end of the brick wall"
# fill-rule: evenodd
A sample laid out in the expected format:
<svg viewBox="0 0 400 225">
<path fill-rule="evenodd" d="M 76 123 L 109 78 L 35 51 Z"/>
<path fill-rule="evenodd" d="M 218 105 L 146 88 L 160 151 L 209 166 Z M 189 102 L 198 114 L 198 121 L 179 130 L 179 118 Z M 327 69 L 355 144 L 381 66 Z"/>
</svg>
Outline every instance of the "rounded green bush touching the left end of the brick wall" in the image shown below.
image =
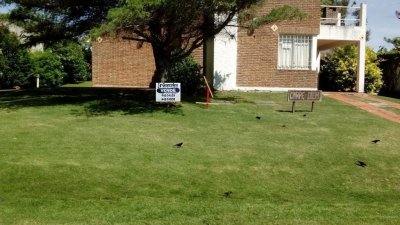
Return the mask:
<svg viewBox="0 0 400 225">
<path fill-rule="evenodd" d="M 76 42 L 63 41 L 52 45 L 49 49 L 59 57 L 63 65 L 64 83 L 76 83 L 91 78 L 90 65 L 86 61 L 81 45 Z"/>
</svg>

